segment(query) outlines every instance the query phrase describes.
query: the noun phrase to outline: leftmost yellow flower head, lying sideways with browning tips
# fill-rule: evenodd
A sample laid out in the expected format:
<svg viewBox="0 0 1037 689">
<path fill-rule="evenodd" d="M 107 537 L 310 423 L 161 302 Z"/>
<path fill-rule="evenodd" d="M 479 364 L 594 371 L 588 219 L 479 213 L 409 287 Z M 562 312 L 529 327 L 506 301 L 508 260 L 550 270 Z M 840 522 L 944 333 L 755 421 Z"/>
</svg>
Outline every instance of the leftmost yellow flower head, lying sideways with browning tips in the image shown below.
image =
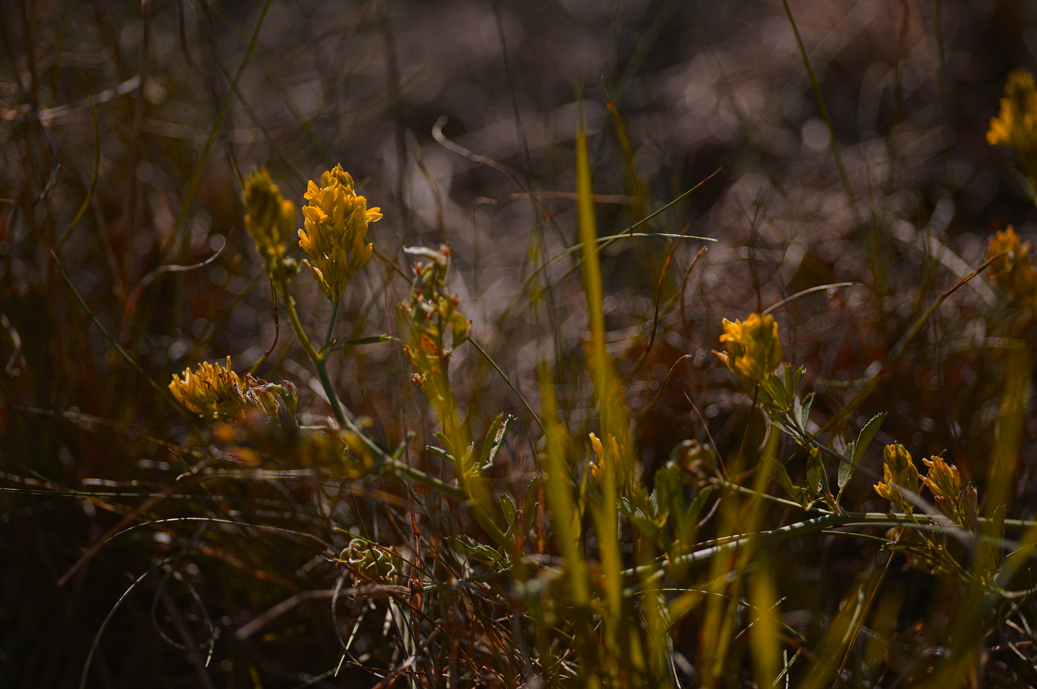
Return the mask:
<svg viewBox="0 0 1037 689">
<path fill-rule="evenodd" d="M 271 392 L 273 387 L 247 373 L 243 381 L 230 370 L 229 356 L 227 368 L 202 362 L 193 373 L 189 368 L 180 375 L 174 373 L 169 383 L 170 392 L 180 404 L 206 419 L 233 419 L 252 409 L 276 419 L 278 405 Z"/>
</svg>

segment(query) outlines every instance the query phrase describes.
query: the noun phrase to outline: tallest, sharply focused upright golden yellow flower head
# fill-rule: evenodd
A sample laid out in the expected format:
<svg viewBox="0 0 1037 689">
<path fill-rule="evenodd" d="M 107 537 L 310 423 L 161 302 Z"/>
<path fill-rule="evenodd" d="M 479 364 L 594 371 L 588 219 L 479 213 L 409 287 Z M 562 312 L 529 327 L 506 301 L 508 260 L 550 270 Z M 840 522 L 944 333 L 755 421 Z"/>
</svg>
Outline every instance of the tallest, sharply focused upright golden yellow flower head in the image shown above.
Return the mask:
<svg viewBox="0 0 1037 689">
<path fill-rule="evenodd" d="M 367 199 L 357 196 L 353 177 L 336 165 L 312 180 L 304 195 L 305 229 L 299 230 L 299 246 L 309 260 L 306 267 L 332 302 L 338 302 L 346 281 L 371 257 L 373 245 L 366 243 L 367 225 L 382 218 L 381 208 L 367 208 Z"/>
</svg>

